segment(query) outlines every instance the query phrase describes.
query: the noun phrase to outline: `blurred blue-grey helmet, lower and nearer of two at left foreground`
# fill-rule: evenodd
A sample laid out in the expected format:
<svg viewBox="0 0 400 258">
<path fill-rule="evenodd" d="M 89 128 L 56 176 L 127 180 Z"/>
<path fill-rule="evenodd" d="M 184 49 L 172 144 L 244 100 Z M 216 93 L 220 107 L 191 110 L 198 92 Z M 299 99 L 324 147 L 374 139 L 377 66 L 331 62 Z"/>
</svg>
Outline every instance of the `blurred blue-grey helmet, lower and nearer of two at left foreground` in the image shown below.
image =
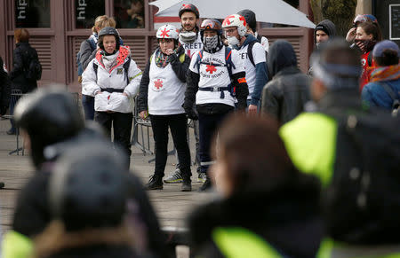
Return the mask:
<svg viewBox="0 0 400 258">
<path fill-rule="evenodd" d="M 106 142 L 78 144 L 58 160 L 48 198 L 67 231 L 117 226 L 128 199 L 124 153 Z"/>
</svg>

